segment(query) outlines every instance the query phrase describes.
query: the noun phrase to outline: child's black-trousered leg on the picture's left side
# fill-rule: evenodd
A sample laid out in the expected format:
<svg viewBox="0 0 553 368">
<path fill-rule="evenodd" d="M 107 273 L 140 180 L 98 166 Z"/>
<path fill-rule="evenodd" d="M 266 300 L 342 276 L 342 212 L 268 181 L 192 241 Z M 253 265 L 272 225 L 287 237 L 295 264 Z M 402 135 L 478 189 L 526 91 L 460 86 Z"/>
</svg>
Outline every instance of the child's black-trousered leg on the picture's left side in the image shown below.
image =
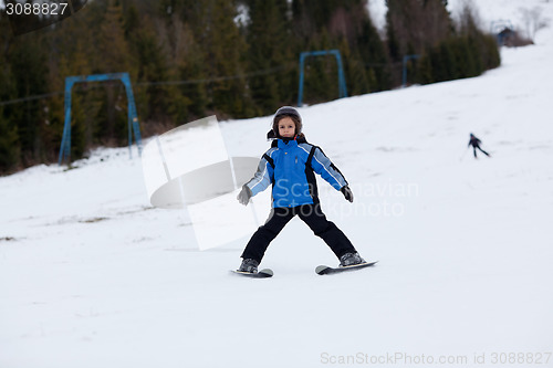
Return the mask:
<svg viewBox="0 0 553 368">
<path fill-rule="evenodd" d="M 261 263 L 267 248 L 294 217 L 294 211 L 288 208 L 275 208 L 271 211 L 265 224 L 253 233 L 241 255 L 242 259 L 253 259 Z"/>
</svg>

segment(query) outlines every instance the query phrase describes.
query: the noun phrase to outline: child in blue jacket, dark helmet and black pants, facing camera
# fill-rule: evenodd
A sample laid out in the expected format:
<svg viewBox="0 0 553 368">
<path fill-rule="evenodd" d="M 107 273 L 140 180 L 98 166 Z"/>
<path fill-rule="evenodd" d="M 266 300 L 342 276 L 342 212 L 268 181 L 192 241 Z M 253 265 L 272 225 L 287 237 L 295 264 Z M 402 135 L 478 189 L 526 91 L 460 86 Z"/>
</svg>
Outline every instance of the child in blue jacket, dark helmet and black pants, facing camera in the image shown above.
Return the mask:
<svg viewBox="0 0 553 368">
<path fill-rule="evenodd" d="M 242 186 L 237 199 L 247 206 L 251 197 L 272 185 L 272 209 L 265 224 L 246 245 L 238 271 L 257 272 L 269 243 L 296 214 L 331 248 L 341 266 L 365 263 L 352 242 L 321 210 L 313 171 L 349 202 L 353 202 L 353 192 L 323 150 L 305 140 L 298 111 L 290 106 L 279 108 L 268 138 L 274 139 L 271 148 L 262 156 L 255 175 Z"/>
</svg>

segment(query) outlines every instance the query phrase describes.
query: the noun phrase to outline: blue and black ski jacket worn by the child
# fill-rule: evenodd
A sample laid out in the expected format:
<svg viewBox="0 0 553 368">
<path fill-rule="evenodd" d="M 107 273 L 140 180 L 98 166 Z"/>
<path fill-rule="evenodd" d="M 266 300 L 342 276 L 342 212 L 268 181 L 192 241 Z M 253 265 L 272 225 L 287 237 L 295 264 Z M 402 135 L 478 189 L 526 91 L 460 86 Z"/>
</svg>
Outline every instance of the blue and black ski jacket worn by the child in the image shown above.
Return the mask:
<svg viewBox="0 0 553 368">
<path fill-rule="evenodd" d="M 272 207 L 292 208 L 319 203 L 316 179 L 319 174 L 336 190 L 347 186 L 340 170 L 323 150 L 309 144 L 305 138 L 273 140 L 263 154 L 253 178 L 246 183 L 252 196 L 272 185 Z"/>
</svg>

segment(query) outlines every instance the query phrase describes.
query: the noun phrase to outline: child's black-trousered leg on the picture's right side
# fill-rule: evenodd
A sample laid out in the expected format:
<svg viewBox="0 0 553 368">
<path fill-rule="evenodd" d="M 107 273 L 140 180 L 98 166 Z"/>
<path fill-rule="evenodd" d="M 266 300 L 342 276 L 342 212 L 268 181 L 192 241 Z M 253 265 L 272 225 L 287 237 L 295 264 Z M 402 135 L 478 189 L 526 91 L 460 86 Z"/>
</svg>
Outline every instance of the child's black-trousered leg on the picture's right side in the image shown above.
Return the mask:
<svg viewBox="0 0 553 368">
<path fill-rule="evenodd" d="M 342 230 L 334 222 L 326 220 L 321 210 L 321 204 L 304 204 L 301 207 L 298 215 L 313 230 L 315 235 L 324 240 L 338 259 L 345 253 L 356 252 L 352 242 Z"/>
</svg>

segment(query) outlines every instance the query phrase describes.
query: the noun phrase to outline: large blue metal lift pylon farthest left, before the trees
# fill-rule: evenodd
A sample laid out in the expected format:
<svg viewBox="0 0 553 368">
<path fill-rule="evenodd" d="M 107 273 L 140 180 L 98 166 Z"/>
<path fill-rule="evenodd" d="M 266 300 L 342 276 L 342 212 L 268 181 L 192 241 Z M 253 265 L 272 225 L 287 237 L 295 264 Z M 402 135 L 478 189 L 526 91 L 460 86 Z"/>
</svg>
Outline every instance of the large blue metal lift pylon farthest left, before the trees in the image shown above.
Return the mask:
<svg viewBox="0 0 553 368">
<path fill-rule="evenodd" d="M 128 111 L 128 154 L 133 157 L 133 132 L 135 135 L 138 155 L 142 155 L 142 137 L 140 127 L 138 125 L 138 116 L 136 114 L 135 97 L 133 94 L 133 86 L 131 85 L 131 77 L 128 73 L 112 73 L 112 74 L 93 74 L 93 75 L 77 75 L 65 77 L 65 124 L 63 126 L 62 144 L 60 147 L 60 156 L 58 164 L 61 165 L 63 159 L 71 156 L 71 90 L 73 85 L 79 82 L 104 82 L 112 80 L 121 80 L 125 85 L 127 93 L 127 111 Z"/>
</svg>

